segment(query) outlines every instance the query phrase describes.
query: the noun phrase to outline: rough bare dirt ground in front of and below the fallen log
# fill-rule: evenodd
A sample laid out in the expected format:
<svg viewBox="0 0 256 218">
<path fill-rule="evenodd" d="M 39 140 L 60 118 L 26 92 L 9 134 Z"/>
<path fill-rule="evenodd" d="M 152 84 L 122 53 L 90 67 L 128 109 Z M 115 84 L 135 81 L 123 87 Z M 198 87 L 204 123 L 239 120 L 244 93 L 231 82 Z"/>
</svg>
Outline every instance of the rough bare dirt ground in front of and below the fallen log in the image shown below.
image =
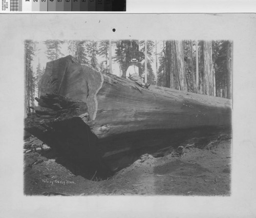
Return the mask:
<svg viewBox="0 0 256 218">
<path fill-rule="evenodd" d="M 206 149 L 190 146 L 183 151 L 178 157 L 174 154 L 160 158 L 144 155 L 108 180 L 92 181 L 75 176 L 57 163 L 49 147 L 26 148 L 24 193 L 47 196 L 230 195 L 230 140 Z"/>
</svg>

